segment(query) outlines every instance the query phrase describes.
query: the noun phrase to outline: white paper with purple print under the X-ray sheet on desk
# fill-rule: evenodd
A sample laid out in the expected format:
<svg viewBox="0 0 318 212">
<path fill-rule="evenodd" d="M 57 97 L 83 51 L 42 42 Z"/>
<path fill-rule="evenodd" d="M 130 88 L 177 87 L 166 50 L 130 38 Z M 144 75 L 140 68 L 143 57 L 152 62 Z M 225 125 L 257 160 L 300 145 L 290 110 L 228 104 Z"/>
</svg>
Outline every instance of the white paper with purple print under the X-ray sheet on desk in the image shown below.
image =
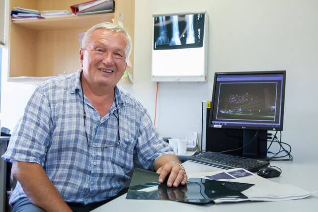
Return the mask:
<svg viewBox="0 0 318 212">
<path fill-rule="evenodd" d="M 279 184 L 255 175 L 245 169 L 236 168 L 216 172 L 196 173 L 188 177 L 201 177 L 211 180 L 228 182 L 252 183 L 254 186 L 242 192 L 247 199 L 222 198 L 214 200 L 215 203 L 240 202 L 240 201 L 282 201 L 303 199 L 316 193 L 308 192 L 293 185 Z"/>
</svg>

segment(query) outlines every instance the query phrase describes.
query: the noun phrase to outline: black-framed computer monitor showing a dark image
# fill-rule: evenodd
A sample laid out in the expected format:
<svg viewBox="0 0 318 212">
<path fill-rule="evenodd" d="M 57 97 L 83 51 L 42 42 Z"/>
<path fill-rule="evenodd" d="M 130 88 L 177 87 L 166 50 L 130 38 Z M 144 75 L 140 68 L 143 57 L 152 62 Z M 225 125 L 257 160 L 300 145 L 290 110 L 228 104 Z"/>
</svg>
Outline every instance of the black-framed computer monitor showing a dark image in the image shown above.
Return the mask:
<svg viewBox="0 0 318 212">
<path fill-rule="evenodd" d="M 283 130 L 286 71 L 215 73 L 213 128 Z"/>
</svg>

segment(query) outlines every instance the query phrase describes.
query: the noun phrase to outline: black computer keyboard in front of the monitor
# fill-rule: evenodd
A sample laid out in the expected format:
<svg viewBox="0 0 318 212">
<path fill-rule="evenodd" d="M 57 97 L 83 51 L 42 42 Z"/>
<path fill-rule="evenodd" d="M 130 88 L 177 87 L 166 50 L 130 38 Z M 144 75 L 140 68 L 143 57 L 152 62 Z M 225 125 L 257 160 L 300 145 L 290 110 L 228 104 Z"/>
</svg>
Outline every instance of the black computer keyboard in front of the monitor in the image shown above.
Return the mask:
<svg viewBox="0 0 318 212">
<path fill-rule="evenodd" d="M 224 169 L 244 168 L 248 171 L 258 171 L 262 167 L 268 166 L 269 162 L 265 160 L 239 157 L 218 152 L 202 152 L 189 157 L 190 161 L 203 163 Z"/>
</svg>

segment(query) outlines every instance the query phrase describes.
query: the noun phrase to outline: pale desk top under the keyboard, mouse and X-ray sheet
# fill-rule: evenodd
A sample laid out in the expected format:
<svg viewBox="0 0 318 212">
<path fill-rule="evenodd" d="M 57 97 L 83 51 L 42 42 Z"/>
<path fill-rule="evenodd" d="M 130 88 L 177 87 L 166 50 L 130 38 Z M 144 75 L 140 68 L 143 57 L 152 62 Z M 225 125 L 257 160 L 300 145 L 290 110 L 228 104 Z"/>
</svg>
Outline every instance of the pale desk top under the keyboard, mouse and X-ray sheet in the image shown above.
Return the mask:
<svg viewBox="0 0 318 212">
<path fill-rule="evenodd" d="M 307 191 L 318 191 L 316 161 L 271 162 L 283 172 L 271 180 L 277 183 L 293 184 Z M 186 161 L 183 166 L 188 173 L 217 171 L 219 168 Z M 126 194 L 97 208 L 94 212 L 317 212 L 318 194 L 303 200 L 278 202 L 241 202 L 193 205 L 160 200 L 126 200 Z"/>
</svg>

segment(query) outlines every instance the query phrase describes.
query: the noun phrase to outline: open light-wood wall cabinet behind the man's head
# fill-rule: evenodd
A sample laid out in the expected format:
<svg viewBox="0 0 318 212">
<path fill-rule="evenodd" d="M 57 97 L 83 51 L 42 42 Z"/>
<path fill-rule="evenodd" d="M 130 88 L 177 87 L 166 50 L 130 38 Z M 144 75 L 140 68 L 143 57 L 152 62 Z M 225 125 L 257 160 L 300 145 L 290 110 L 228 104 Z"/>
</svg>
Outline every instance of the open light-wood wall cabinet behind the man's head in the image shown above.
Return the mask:
<svg viewBox="0 0 318 212">
<path fill-rule="evenodd" d="M 14 6 L 37 10 L 70 10 L 85 0 L 10 0 Z M 94 24 L 123 23 L 134 44 L 135 0 L 115 0 L 115 12 L 56 18 L 9 21 L 8 81 L 25 81 L 20 76 L 47 77 L 69 74 L 80 68 L 79 34 Z M 134 51 L 130 56 L 133 75 Z M 33 80 L 33 79 L 32 79 Z M 128 77 L 122 81 L 129 81 Z"/>
</svg>

